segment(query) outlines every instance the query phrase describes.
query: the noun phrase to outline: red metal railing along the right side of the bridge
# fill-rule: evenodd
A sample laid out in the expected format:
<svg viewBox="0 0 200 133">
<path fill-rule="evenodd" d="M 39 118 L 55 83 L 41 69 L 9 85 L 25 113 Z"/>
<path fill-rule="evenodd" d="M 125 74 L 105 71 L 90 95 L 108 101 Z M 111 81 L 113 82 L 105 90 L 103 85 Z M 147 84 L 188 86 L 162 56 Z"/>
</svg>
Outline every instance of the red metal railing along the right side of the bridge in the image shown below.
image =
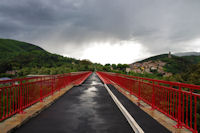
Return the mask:
<svg viewBox="0 0 200 133">
<path fill-rule="evenodd" d="M 197 133 L 200 130 L 200 86 L 128 76 L 116 73 L 97 72 L 104 83 L 115 83 L 151 105 L 182 126 Z"/>
</svg>

